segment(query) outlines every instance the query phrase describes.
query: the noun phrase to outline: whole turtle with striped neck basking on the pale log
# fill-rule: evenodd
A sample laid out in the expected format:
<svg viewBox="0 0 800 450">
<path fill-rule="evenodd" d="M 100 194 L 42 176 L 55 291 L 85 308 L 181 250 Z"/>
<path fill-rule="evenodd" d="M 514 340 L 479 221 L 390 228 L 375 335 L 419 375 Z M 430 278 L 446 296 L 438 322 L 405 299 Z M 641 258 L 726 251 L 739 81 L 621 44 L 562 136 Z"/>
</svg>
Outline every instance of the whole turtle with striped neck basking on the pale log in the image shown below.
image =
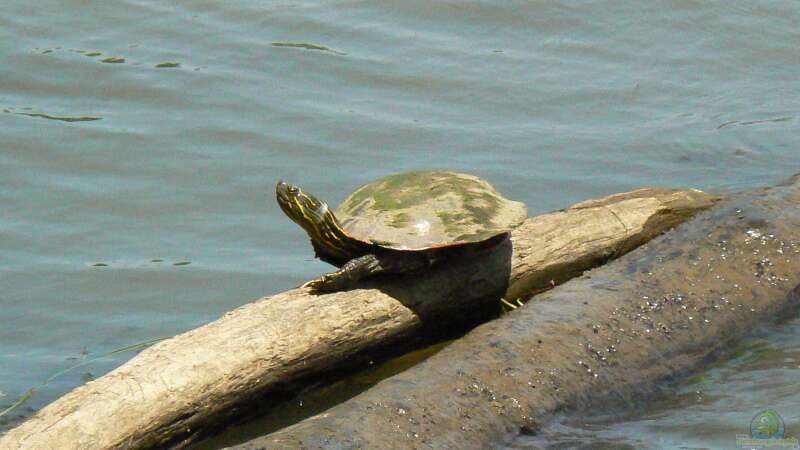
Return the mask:
<svg viewBox="0 0 800 450">
<path fill-rule="evenodd" d="M 275 193 L 283 212 L 308 233 L 316 256 L 339 268 L 303 285 L 323 292 L 425 269 L 450 249 L 502 240 L 527 218 L 524 203 L 474 175 L 447 171 L 381 178 L 356 189 L 335 211 L 282 180 Z"/>
</svg>

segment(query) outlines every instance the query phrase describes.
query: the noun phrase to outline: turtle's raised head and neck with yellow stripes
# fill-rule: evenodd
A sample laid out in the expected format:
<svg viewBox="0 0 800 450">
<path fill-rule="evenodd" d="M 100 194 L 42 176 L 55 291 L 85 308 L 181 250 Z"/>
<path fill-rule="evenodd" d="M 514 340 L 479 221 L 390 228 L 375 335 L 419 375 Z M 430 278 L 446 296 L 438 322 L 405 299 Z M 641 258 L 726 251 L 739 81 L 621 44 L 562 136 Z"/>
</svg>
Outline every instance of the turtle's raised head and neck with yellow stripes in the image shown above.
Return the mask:
<svg viewBox="0 0 800 450">
<path fill-rule="evenodd" d="M 275 195 L 283 212 L 306 230 L 315 249 L 334 258 L 353 257 L 353 239 L 342 230 L 327 203 L 285 181 L 278 181 Z"/>
</svg>

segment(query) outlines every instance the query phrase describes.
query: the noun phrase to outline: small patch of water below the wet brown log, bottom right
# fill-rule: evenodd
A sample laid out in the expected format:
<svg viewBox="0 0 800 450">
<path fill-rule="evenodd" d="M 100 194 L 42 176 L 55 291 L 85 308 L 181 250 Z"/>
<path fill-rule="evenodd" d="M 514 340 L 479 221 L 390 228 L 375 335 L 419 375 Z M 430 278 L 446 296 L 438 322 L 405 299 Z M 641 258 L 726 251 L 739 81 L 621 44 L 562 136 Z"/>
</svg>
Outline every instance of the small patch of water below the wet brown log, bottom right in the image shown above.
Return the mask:
<svg viewBox="0 0 800 450">
<path fill-rule="evenodd" d="M 765 410 L 800 439 L 800 319 L 764 330 L 664 398 L 622 417 L 561 416 L 512 449 L 732 449 Z M 751 448 L 751 447 L 746 447 Z M 765 447 L 766 448 L 766 447 Z M 774 445 L 769 448 L 791 448 Z"/>
</svg>

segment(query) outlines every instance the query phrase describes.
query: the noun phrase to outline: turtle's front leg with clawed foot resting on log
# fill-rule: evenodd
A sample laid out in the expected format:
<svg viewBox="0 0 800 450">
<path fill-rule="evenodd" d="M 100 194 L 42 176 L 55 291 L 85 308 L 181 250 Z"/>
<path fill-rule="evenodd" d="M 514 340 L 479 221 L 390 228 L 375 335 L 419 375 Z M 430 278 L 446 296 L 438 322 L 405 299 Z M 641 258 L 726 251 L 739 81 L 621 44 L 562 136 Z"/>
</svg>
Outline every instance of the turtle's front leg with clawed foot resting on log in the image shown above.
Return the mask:
<svg viewBox="0 0 800 450">
<path fill-rule="evenodd" d="M 359 280 L 383 273 L 402 273 L 422 269 L 429 265 L 428 258 L 420 254 L 364 255 L 351 259 L 336 272 L 326 273 L 309 281 L 303 287 L 315 291 L 332 292 L 347 289 Z"/>
</svg>

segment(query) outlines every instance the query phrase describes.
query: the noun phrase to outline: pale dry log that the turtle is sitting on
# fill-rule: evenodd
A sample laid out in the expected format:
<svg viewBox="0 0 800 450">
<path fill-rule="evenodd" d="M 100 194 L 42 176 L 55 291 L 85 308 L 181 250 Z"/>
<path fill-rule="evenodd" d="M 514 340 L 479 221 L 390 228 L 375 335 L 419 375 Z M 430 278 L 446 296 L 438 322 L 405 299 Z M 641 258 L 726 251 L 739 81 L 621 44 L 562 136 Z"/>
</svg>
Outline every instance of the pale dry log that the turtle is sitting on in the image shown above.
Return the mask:
<svg viewBox="0 0 800 450">
<path fill-rule="evenodd" d="M 541 290 L 624 253 L 718 197 L 643 189 L 526 221 L 494 249 L 430 273 L 312 295 L 293 289 L 156 344 L 0 436 L 0 448 L 183 447 L 365 352 L 432 328 L 486 319 L 504 292 Z M 413 282 L 412 282 L 413 281 Z"/>
</svg>

